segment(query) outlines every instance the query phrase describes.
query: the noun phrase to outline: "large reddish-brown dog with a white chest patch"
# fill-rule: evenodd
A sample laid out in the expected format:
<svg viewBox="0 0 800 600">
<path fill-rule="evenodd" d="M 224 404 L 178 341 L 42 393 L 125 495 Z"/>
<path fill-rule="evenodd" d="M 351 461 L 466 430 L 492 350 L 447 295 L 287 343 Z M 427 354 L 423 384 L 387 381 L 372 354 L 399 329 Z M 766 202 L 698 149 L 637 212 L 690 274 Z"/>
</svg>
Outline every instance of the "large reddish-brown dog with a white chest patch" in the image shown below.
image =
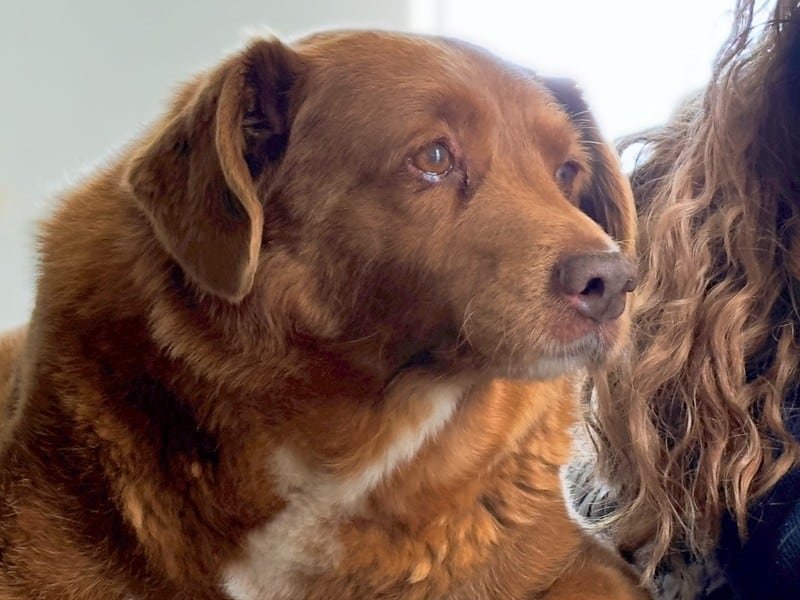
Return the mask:
<svg viewBox="0 0 800 600">
<path fill-rule="evenodd" d="M 633 229 L 565 82 L 255 41 L 44 228 L 0 347 L 0 597 L 644 597 L 559 481 Z"/>
</svg>

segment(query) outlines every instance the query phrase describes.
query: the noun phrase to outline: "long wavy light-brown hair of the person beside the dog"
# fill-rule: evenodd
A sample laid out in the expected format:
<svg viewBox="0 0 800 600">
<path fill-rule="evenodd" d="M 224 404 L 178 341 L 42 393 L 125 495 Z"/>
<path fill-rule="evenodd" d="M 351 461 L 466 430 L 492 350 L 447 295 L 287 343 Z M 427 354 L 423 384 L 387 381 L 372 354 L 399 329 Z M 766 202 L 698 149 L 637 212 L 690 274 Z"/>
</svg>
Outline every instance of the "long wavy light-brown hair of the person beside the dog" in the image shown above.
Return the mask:
<svg viewBox="0 0 800 600">
<path fill-rule="evenodd" d="M 796 464 L 800 381 L 800 8 L 739 0 L 708 87 L 643 144 L 632 175 L 641 286 L 629 360 L 597 383 L 613 531 L 651 575 L 713 549 L 725 511 Z"/>
</svg>

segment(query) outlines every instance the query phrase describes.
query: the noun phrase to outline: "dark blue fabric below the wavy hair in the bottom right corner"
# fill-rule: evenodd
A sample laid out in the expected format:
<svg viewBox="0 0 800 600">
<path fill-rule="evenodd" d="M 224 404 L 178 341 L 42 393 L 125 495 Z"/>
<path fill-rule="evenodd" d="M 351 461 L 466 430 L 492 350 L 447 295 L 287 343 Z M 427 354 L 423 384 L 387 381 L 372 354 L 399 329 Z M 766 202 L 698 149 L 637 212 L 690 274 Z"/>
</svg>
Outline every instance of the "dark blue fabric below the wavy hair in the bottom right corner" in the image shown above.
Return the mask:
<svg viewBox="0 0 800 600">
<path fill-rule="evenodd" d="M 800 400 L 787 401 L 787 424 L 800 440 Z M 734 598 L 800 600 L 800 469 L 788 473 L 752 509 L 742 543 L 733 519 L 722 524 L 718 550 Z"/>
</svg>

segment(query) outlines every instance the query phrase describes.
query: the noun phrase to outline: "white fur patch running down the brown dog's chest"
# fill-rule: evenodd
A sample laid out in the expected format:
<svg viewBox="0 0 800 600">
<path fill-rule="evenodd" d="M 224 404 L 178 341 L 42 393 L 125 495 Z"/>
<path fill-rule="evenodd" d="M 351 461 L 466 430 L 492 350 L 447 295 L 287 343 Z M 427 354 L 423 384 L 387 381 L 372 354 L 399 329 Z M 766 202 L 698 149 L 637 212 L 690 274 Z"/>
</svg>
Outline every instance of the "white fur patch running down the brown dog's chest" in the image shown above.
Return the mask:
<svg viewBox="0 0 800 600">
<path fill-rule="evenodd" d="M 382 480 L 409 462 L 450 420 L 464 392 L 462 385 L 438 383 L 414 398 L 430 405 L 425 420 L 401 430 L 375 462 L 347 478 L 310 468 L 290 448 L 278 450 L 269 467 L 286 507 L 248 535 L 244 557 L 224 572 L 224 590 L 234 600 L 303 598 L 297 577 L 331 567 L 341 555 L 336 519 L 357 511 Z"/>
</svg>

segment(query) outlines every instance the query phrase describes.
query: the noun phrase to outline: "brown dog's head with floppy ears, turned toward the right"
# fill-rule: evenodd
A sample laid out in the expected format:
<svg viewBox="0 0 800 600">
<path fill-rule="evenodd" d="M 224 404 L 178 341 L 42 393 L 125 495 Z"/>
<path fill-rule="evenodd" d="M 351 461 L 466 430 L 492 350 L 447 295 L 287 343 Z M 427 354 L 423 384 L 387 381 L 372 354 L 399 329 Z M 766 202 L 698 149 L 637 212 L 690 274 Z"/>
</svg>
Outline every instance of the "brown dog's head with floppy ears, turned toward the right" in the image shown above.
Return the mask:
<svg viewBox="0 0 800 600">
<path fill-rule="evenodd" d="M 551 376 L 627 327 L 633 203 L 579 93 L 462 43 L 256 41 L 126 177 L 209 300 L 385 372 Z"/>
</svg>

